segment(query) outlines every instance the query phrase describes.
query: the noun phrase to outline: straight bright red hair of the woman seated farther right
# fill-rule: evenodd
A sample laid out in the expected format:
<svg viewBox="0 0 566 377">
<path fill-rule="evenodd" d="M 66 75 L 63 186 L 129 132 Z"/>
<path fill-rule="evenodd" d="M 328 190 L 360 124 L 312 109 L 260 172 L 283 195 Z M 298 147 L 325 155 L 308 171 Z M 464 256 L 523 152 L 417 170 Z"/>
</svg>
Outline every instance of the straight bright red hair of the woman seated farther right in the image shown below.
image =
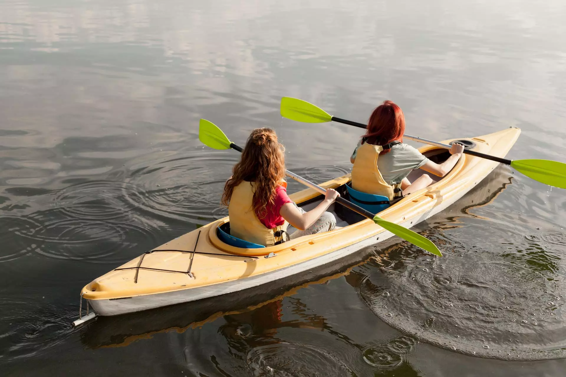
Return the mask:
<svg viewBox="0 0 566 377">
<path fill-rule="evenodd" d="M 367 132 L 363 137 L 374 145 L 385 145 L 392 141 L 403 141 L 405 133 L 405 115 L 401 107 L 391 101 L 383 101 L 371 113 L 367 122 Z M 380 154 L 389 153 L 391 149 L 384 149 Z"/>
</svg>

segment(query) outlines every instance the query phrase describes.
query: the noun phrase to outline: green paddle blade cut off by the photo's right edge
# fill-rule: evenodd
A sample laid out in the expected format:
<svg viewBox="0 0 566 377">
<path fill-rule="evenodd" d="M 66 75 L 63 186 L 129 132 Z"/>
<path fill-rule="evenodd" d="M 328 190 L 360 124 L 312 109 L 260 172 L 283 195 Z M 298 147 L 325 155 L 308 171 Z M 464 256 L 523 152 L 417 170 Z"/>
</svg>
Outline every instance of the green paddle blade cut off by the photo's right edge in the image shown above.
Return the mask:
<svg viewBox="0 0 566 377">
<path fill-rule="evenodd" d="M 566 188 L 566 164 L 551 160 L 516 160 L 511 166 L 536 181 L 559 188 Z"/>
</svg>

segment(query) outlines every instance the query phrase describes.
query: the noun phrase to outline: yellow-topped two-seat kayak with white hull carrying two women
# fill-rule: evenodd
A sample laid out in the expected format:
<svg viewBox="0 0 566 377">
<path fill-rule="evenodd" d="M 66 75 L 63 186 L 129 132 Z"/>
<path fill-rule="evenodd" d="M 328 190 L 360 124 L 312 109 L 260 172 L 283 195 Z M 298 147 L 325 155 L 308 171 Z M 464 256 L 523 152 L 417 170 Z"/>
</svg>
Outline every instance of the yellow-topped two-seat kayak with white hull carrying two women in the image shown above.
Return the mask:
<svg viewBox="0 0 566 377">
<path fill-rule="evenodd" d="M 508 128 L 488 135 L 443 141 L 461 142 L 474 151 L 505 157 L 521 130 Z M 449 157 L 445 149 L 423 146 L 419 149 L 432 161 Z M 385 220 L 410 228 L 439 213 L 474 188 L 498 162 L 463 154 L 456 166 L 443 178 L 381 211 Z M 409 175 L 414 180 L 422 170 Z M 345 192 L 350 174 L 320 184 Z M 323 199 L 307 188 L 290 194 L 291 200 L 308 210 Z M 328 211 L 336 214 L 337 228 L 331 232 L 299 237 L 267 248 L 245 249 L 231 246 L 219 237 L 218 227 L 229 222 L 225 217 L 188 232 L 149 250 L 122 266 L 100 276 L 82 289 L 81 297 L 98 315 L 133 313 L 240 292 L 295 274 L 328 265 L 367 246 L 393 236 L 371 219 L 348 216 L 348 210 L 336 203 Z"/>
</svg>

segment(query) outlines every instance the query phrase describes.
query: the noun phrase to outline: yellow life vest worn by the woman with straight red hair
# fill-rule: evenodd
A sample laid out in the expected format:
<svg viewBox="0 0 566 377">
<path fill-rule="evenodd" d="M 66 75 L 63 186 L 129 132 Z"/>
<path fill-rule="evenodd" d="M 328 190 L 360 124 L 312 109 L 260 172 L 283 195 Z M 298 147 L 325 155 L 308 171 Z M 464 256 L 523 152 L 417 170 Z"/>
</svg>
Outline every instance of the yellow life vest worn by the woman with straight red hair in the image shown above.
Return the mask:
<svg viewBox="0 0 566 377">
<path fill-rule="evenodd" d="M 403 196 L 401 183 L 390 185 L 378 170 L 379 153 L 383 146 L 364 142 L 359 146 L 352 167 L 352 188 L 366 194 L 382 195 L 393 200 Z"/>
</svg>

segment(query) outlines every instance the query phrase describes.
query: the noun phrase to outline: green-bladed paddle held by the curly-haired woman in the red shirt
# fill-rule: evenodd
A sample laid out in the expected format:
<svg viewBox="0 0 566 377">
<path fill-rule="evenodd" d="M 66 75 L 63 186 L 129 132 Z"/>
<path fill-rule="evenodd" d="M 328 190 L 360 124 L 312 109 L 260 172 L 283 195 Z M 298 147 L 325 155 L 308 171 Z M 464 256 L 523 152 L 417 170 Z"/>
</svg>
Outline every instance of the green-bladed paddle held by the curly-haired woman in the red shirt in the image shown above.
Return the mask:
<svg viewBox="0 0 566 377">
<path fill-rule="evenodd" d="M 224 135 L 224 132 L 222 132 L 222 130 L 216 126 L 216 124 L 209 122 L 208 120 L 205 120 L 205 119 L 200 120 L 199 140 L 204 145 L 207 145 L 207 146 L 209 146 L 210 148 L 213 148 L 213 149 L 230 149 L 231 148 L 231 149 L 235 149 L 239 152 L 241 152 L 243 150 L 241 146 L 235 145 L 233 142 L 231 142 L 229 140 L 229 138 L 226 137 L 226 135 Z M 320 187 L 319 185 L 317 185 L 315 183 L 312 183 L 311 181 L 309 181 L 309 180 L 307 180 L 303 177 L 298 176 L 297 174 L 290 172 L 289 170 L 285 170 L 285 174 L 290 176 L 294 180 L 302 183 L 303 185 L 306 185 L 307 187 L 310 187 L 311 189 L 318 191 L 321 194 L 326 193 L 326 190 L 324 188 Z M 388 230 L 389 232 L 393 233 L 394 235 L 396 235 L 396 236 L 398 236 L 398 237 L 400 237 L 400 238 L 402 238 L 406 241 L 411 242 L 411 244 L 416 245 L 419 248 L 426 250 L 427 252 L 438 255 L 439 257 L 442 256 L 442 253 L 440 253 L 440 250 L 436 247 L 436 245 L 431 240 L 427 239 L 426 237 L 421 236 L 418 233 L 411 231 L 410 229 L 402 227 L 399 224 L 392 223 L 390 221 L 382 219 L 378 215 L 372 214 L 370 211 L 366 211 L 362 207 L 359 207 L 359 206 L 355 205 L 354 203 L 349 202 L 348 200 L 345 200 L 342 197 L 337 197 L 336 202 L 340 203 L 341 205 L 343 205 L 345 207 L 348 207 L 349 209 L 351 209 L 351 210 L 353 210 L 353 211 L 355 211 L 355 212 L 357 212 L 357 213 L 359 213 L 363 216 L 366 216 L 368 219 L 374 220 L 374 223 L 378 224 L 379 226 Z"/>
</svg>

